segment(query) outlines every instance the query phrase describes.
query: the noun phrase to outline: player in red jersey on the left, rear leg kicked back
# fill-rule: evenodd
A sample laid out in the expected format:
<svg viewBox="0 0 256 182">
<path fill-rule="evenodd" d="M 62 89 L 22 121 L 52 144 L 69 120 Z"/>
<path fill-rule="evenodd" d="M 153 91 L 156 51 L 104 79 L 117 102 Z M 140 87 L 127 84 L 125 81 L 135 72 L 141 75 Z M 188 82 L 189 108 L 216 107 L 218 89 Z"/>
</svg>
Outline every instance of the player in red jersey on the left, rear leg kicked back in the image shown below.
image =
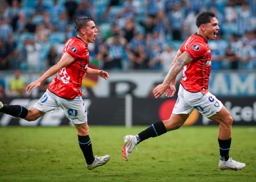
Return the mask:
<svg viewBox="0 0 256 182">
<path fill-rule="evenodd" d="M 48 89 L 31 108 L 26 109 L 20 105 L 3 105 L 0 102 L 0 112 L 27 121 L 35 121 L 47 112 L 53 112 L 57 107 L 65 111 L 69 120 L 74 124 L 80 148 L 86 160 L 86 167 L 92 170 L 106 164 L 110 155 L 94 157 L 89 137 L 87 113 L 82 99 L 82 79 L 87 74 L 99 75 L 109 79 L 109 74 L 103 70 L 88 67 L 88 43 L 93 43 L 97 34 L 95 23 L 91 17 L 78 18 L 75 21 L 77 36 L 70 38 L 63 49 L 60 61 L 46 71 L 40 78 L 28 85 L 27 91 L 37 88 L 48 77 L 58 73 L 48 85 Z"/>
</svg>

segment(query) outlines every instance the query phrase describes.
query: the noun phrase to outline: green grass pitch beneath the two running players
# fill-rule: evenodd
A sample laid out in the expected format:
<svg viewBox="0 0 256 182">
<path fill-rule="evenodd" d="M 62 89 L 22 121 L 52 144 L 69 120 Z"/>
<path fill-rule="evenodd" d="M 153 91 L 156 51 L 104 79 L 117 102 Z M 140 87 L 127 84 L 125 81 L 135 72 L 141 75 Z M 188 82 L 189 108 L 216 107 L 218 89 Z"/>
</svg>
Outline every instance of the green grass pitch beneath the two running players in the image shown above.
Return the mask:
<svg viewBox="0 0 256 182">
<path fill-rule="evenodd" d="M 90 127 L 94 154 L 110 161 L 89 171 L 72 127 L 0 128 L 0 181 L 256 181 L 256 127 L 233 127 L 230 157 L 239 171 L 218 169 L 218 128 L 182 127 L 139 144 L 124 161 L 123 137 L 146 127 Z"/>
</svg>

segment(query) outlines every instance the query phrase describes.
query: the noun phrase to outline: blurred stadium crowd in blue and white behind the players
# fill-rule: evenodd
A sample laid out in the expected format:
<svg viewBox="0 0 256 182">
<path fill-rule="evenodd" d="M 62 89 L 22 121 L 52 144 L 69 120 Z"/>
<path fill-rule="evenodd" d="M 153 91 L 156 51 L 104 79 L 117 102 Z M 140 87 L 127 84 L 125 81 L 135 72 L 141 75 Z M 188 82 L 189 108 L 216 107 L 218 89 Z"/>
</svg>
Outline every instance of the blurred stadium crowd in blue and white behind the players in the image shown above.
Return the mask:
<svg viewBox="0 0 256 182">
<path fill-rule="evenodd" d="M 6 0 L 0 13 L 0 71 L 43 71 L 56 64 L 73 22 L 94 18 L 90 61 L 105 70 L 169 70 L 199 12 L 214 12 L 212 70 L 256 69 L 255 0 Z M 15 76 L 19 73 L 15 72 Z M 3 95 L 0 78 L 0 97 Z M 21 90 L 20 90 L 21 89 Z M 17 94 L 22 94 L 19 88 Z"/>
</svg>

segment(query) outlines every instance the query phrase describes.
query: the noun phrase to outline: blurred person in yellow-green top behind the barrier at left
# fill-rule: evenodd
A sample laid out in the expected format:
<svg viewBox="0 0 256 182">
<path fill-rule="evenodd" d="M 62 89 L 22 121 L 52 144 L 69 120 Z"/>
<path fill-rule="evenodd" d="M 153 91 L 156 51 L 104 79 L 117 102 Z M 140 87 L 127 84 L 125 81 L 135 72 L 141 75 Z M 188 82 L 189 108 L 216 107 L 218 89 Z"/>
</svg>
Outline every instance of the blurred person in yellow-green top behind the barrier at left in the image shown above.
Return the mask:
<svg viewBox="0 0 256 182">
<path fill-rule="evenodd" d="M 14 72 L 14 77 L 11 78 L 10 80 L 9 91 L 11 96 L 19 97 L 22 95 L 22 89 L 23 89 L 23 86 L 25 85 L 25 80 L 23 77 L 20 77 L 20 75 L 21 75 L 20 70 L 16 70 Z"/>
</svg>

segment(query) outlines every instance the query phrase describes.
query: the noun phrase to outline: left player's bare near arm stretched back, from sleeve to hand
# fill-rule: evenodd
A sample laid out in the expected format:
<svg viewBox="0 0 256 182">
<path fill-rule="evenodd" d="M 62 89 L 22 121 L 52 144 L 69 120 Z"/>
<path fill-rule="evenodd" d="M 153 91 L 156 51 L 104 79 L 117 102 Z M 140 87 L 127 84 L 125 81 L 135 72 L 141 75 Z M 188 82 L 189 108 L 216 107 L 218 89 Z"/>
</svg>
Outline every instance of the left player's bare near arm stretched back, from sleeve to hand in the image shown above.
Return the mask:
<svg viewBox="0 0 256 182">
<path fill-rule="evenodd" d="M 66 66 L 68 66 L 70 63 L 72 63 L 75 59 L 70 56 L 68 53 L 65 53 L 62 58 L 60 59 L 60 61 L 54 65 L 52 68 L 50 68 L 49 70 L 47 70 L 40 78 L 38 78 L 37 80 L 33 81 L 31 84 L 29 84 L 27 86 L 26 91 L 30 92 L 30 90 L 32 88 L 37 88 L 41 85 L 42 81 L 44 81 L 45 79 L 47 79 L 48 77 L 56 74 L 60 69 L 65 68 Z"/>
</svg>

